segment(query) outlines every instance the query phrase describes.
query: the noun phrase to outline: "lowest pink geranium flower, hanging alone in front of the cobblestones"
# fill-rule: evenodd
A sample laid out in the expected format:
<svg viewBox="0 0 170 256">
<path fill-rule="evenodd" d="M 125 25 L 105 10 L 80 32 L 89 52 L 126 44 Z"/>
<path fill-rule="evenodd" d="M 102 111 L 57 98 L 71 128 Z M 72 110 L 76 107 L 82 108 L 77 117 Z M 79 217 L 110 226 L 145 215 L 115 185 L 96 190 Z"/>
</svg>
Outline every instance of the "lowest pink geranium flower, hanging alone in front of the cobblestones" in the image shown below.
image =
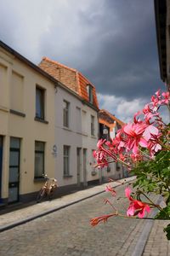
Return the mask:
<svg viewBox="0 0 170 256">
<path fill-rule="evenodd" d="M 150 212 L 149 205 L 142 201 L 133 199 L 131 196 L 131 189 L 129 187 L 125 189 L 125 195 L 130 201 L 130 205 L 127 209 L 127 216 L 135 216 L 138 214 L 139 218 L 144 218 L 144 213 Z"/>
</svg>

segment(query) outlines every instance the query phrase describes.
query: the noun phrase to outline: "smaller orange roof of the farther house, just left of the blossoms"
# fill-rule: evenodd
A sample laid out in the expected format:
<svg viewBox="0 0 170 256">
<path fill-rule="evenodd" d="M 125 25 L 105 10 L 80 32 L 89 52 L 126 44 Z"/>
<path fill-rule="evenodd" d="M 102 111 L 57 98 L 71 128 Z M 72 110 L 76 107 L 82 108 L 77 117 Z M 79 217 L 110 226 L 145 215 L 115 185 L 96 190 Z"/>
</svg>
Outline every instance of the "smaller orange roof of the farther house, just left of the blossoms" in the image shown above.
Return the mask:
<svg viewBox="0 0 170 256">
<path fill-rule="evenodd" d="M 117 119 L 115 115 L 111 114 L 105 109 L 99 110 L 99 123 L 107 125 L 110 128 L 115 127 L 116 123 L 121 127 L 125 125 L 125 123 L 123 123 L 120 119 Z"/>
</svg>

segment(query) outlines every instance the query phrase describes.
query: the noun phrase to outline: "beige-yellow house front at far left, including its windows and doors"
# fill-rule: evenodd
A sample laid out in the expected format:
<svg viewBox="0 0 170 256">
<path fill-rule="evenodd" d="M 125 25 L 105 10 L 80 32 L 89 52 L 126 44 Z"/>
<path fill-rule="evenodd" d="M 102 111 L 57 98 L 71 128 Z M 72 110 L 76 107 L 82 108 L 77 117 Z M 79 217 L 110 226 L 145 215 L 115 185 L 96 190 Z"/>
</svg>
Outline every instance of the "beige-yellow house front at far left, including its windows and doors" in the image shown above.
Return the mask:
<svg viewBox="0 0 170 256">
<path fill-rule="evenodd" d="M 0 203 L 30 201 L 54 176 L 57 81 L 0 41 Z"/>
</svg>

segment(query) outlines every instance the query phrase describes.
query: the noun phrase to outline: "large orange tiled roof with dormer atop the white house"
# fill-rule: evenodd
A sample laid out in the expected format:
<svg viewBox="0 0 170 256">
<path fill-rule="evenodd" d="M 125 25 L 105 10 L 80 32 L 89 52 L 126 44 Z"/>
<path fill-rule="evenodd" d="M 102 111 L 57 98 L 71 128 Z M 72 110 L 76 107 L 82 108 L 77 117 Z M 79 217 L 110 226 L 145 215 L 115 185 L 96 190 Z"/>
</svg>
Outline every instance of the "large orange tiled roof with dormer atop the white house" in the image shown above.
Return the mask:
<svg viewBox="0 0 170 256">
<path fill-rule="evenodd" d="M 95 86 L 85 78 L 77 69 L 67 67 L 58 61 L 50 60 L 48 57 L 43 57 L 39 64 L 45 72 L 58 79 L 71 90 L 74 90 L 77 95 L 81 96 L 85 102 L 89 103 L 87 85 L 90 84 L 93 88 L 93 105 L 99 109 L 99 103 L 96 96 Z"/>
</svg>

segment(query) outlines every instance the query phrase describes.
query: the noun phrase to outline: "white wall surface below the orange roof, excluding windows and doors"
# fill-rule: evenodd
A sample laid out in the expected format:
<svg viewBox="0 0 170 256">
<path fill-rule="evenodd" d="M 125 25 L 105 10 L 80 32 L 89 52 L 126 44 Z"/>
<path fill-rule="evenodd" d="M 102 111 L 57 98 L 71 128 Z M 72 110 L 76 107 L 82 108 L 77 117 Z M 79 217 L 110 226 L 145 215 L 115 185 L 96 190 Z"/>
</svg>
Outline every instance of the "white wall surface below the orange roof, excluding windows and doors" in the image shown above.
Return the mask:
<svg viewBox="0 0 170 256">
<path fill-rule="evenodd" d="M 69 129 L 63 126 L 63 101 L 70 102 Z M 91 136 L 91 114 L 95 119 L 95 137 Z M 92 150 L 96 149 L 98 141 L 98 117 L 97 112 L 82 104 L 82 101 L 69 91 L 58 87 L 55 95 L 55 144 L 57 146 L 57 155 L 55 157 L 55 177 L 58 179 L 59 186 L 71 185 L 77 183 L 77 148 L 81 150 L 81 173 L 80 181 L 84 183 L 83 171 L 83 148 L 87 148 L 87 182 L 98 179 L 98 174 L 91 175 L 93 171 Z M 70 174 L 71 177 L 63 175 L 63 146 L 70 146 Z"/>
</svg>

